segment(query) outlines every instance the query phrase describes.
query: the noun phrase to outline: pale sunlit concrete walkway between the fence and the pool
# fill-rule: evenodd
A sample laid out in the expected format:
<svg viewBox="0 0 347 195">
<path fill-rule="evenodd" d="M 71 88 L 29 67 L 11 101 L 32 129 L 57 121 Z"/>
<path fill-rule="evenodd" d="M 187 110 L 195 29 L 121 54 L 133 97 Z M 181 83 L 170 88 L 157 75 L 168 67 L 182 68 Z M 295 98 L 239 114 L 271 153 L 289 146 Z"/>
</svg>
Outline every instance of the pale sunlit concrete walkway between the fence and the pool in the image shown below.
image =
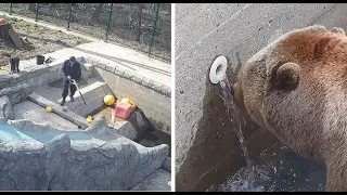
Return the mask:
<svg viewBox="0 0 347 195">
<path fill-rule="evenodd" d="M 144 78 L 155 80 L 167 87 L 171 86 L 170 64 L 151 58 L 147 55 L 138 53 L 133 50 L 103 41 L 85 43 L 74 48 L 65 48 L 44 54 L 44 56 L 52 56 L 56 60 L 66 60 L 72 55 L 76 57 L 90 57 L 94 61 L 108 64 L 114 68 L 119 67 L 127 69 L 130 73 L 136 73 Z M 25 68 L 27 66 L 35 65 L 35 62 L 34 60 L 23 61 L 23 63 L 21 61 L 21 64 L 25 64 L 26 66 L 23 66 L 23 68 Z"/>
</svg>

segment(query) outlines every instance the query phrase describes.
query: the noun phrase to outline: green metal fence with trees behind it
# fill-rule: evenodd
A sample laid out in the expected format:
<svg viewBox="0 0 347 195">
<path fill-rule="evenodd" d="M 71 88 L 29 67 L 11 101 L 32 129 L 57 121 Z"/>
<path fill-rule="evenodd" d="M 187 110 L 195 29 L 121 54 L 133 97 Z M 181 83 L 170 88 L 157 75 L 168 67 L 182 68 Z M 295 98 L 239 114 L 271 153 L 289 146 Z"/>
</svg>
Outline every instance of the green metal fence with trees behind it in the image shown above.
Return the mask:
<svg viewBox="0 0 347 195">
<path fill-rule="evenodd" d="M 0 11 L 171 58 L 170 3 L 0 3 Z"/>
</svg>

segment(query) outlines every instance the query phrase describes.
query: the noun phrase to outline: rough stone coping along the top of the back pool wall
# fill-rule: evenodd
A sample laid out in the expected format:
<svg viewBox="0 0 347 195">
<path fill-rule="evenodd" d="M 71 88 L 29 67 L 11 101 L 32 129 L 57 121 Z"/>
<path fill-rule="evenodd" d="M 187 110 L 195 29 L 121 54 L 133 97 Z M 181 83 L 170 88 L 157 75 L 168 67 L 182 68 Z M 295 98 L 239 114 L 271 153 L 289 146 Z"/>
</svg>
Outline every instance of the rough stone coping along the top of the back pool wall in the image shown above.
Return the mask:
<svg viewBox="0 0 347 195">
<path fill-rule="evenodd" d="M 158 93 L 162 93 L 162 94 L 164 94 L 166 96 L 169 96 L 169 98 L 171 96 L 171 88 L 167 87 L 165 84 L 162 84 L 162 83 L 159 83 L 159 82 L 157 82 L 155 80 L 147 79 L 147 78 L 145 78 L 145 77 L 143 77 L 143 76 L 137 74 L 137 73 L 133 73 L 133 72 L 131 72 L 129 69 L 126 69 L 126 68 L 123 68 L 120 66 L 115 67 L 115 66 L 110 65 L 110 64 L 104 63 L 104 62 L 101 63 L 101 62 L 99 62 L 99 61 L 97 61 L 97 60 L 94 60 L 92 57 L 85 57 L 85 60 L 88 63 L 90 63 L 90 64 L 92 64 L 92 65 L 94 65 L 94 66 L 97 66 L 97 67 L 99 67 L 99 68 L 101 68 L 103 70 L 113 73 L 113 74 L 115 74 L 115 75 L 117 75 L 119 77 L 123 77 L 123 78 L 126 78 L 128 80 L 131 80 L 131 81 L 133 81 L 133 82 L 136 82 L 138 84 L 141 84 L 141 86 L 143 86 L 145 88 L 152 89 L 152 90 L 154 90 L 154 91 L 156 91 Z"/>
</svg>

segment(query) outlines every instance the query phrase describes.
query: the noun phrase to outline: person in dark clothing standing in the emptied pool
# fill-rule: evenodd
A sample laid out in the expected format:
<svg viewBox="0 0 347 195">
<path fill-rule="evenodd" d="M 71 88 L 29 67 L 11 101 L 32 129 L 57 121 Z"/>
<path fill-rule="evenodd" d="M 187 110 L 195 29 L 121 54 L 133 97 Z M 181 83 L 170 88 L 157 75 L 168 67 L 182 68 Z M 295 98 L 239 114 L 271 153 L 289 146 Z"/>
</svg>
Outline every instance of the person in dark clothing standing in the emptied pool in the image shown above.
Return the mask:
<svg viewBox="0 0 347 195">
<path fill-rule="evenodd" d="M 79 81 L 81 76 L 80 70 L 80 64 L 76 61 L 74 56 L 70 56 L 69 60 L 66 60 L 64 62 L 64 65 L 62 67 L 64 73 L 63 83 L 64 83 L 64 90 L 63 90 L 63 101 L 61 105 L 63 106 L 65 104 L 65 99 L 68 93 L 68 87 L 70 91 L 70 101 L 74 102 L 74 94 L 76 92 L 76 86 L 72 83 L 73 79 L 76 80 L 76 82 Z"/>
</svg>

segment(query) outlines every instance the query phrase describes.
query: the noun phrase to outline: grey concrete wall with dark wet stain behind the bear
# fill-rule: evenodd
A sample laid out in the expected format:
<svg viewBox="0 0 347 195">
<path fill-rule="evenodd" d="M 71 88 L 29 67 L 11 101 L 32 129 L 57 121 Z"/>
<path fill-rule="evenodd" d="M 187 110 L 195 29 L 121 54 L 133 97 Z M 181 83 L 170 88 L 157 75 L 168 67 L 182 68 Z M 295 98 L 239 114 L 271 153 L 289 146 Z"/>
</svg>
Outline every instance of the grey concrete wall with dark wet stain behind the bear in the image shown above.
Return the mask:
<svg viewBox="0 0 347 195">
<path fill-rule="evenodd" d="M 177 4 L 176 5 L 176 171 L 177 191 L 205 191 L 245 165 L 219 86 L 208 80 L 218 55 L 228 57 L 234 82 L 237 67 L 270 40 L 313 24 L 347 25 L 347 5 Z M 244 135 L 250 158 L 278 140 L 247 118 Z"/>
</svg>

